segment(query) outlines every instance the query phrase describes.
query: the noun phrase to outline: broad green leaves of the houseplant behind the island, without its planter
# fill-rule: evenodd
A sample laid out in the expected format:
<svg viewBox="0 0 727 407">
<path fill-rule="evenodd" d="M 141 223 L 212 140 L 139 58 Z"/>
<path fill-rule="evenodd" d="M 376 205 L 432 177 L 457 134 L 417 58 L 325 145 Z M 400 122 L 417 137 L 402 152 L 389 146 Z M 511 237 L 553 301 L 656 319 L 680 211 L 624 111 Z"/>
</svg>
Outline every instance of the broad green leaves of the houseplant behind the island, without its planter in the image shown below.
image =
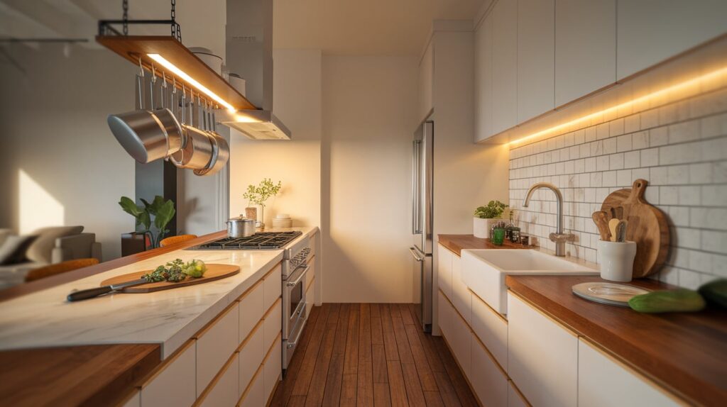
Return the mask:
<svg viewBox="0 0 727 407">
<path fill-rule="evenodd" d="M 136 234 L 148 235 L 150 247 L 159 247 L 159 242 L 164 239 L 169 229 L 166 225 L 172 221 L 177 211 L 174 209 L 174 201 L 164 200 L 164 197 L 157 195 L 152 202 L 142 199 L 143 207 L 129 197 L 121 197 L 119 206 L 124 212 L 132 215 L 136 220 Z M 152 219 L 153 218 L 153 219 Z"/>
</svg>

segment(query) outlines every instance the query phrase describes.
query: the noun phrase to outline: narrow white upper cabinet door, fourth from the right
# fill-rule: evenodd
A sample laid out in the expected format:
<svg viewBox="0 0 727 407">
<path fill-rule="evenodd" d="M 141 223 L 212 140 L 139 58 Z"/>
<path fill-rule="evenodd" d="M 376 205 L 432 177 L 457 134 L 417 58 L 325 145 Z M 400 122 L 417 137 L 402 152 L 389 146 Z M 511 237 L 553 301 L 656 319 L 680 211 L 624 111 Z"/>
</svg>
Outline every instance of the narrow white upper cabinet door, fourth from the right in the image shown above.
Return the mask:
<svg viewBox="0 0 727 407">
<path fill-rule="evenodd" d="M 518 0 L 492 9 L 492 133 L 518 124 Z"/>
</svg>

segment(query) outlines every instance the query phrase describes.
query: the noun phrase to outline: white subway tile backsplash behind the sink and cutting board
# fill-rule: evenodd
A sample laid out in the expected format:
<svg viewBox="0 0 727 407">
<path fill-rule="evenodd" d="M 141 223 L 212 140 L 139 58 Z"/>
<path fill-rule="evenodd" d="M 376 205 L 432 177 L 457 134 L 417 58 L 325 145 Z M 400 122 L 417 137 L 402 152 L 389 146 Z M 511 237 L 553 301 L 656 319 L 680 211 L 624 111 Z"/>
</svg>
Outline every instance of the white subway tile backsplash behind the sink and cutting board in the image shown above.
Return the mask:
<svg viewBox="0 0 727 407">
<path fill-rule="evenodd" d="M 591 213 L 609 193 L 644 178 L 646 201 L 667 215 L 672 233 L 667 265 L 655 278 L 699 287 L 727 277 L 727 89 L 623 117 L 629 113 L 510 150 L 510 204 L 523 232 L 554 248 L 547 238 L 555 231 L 553 193 L 539 191 L 520 207 L 529 186 L 551 182 L 563 192 L 566 229 L 577 236 L 566 250 L 596 261 Z"/>
</svg>

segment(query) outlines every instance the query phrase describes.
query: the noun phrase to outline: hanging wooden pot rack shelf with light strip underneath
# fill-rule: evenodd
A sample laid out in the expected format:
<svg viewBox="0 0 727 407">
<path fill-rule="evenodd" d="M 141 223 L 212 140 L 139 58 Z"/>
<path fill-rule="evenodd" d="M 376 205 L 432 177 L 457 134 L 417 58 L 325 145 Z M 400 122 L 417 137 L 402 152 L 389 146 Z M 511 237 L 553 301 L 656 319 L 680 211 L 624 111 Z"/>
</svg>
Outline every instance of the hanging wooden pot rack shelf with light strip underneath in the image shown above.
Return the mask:
<svg viewBox="0 0 727 407">
<path fill-rule="evenodd" d="M 158 78 L 166 76 L 168 82 L 172 82 L 172 78 L 174 78 L 179 89 L 182 89 L 182 83 L 184 83 L 185 88 L 193 90 L 203 99 L 212 101 L 212 98 L 200 92 L 191 83 L 169 72 L 148 57 L 148 54 L 159 54 L 195 81 L 220 96 L 236 110 L 257 110 L 254 104 L 190 52 L 180 41 L 177 41 L 177 38 L 172 36 L 97 36 L 96 41 L 128 59 L 134 65 L 138 66 L 141 63 L 146 70 L 155 73 Z"/>
</svg>

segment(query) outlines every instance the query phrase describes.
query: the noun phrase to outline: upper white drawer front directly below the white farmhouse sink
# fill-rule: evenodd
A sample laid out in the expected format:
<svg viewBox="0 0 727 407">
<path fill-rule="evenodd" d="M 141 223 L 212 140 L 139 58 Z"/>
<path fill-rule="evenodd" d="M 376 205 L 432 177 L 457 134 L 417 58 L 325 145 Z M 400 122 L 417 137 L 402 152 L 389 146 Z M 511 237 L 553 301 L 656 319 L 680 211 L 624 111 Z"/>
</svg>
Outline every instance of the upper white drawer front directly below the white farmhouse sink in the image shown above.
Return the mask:
<svg viewBox="0 0 727 407">
<path fill-rule="evenodd" d="M 472 330 L 507 371 L 507 320 L 477 295 L 472 296 Z"/>
</svg>

